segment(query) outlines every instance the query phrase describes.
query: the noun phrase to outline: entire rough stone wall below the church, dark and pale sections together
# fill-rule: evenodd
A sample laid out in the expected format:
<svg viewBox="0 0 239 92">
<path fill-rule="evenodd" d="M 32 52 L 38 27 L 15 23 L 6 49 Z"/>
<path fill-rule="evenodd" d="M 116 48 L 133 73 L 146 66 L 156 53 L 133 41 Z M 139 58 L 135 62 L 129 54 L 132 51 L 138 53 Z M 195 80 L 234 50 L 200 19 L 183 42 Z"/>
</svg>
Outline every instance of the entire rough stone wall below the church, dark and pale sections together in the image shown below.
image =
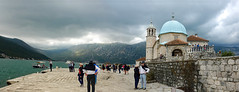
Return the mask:
<svg viewBox="0 0 239 92">
<path fill-rule="evenodd" d="M 239 56 L 148 65 L 157 82 L 188 92 L 239 92 Z"/>
</svg>

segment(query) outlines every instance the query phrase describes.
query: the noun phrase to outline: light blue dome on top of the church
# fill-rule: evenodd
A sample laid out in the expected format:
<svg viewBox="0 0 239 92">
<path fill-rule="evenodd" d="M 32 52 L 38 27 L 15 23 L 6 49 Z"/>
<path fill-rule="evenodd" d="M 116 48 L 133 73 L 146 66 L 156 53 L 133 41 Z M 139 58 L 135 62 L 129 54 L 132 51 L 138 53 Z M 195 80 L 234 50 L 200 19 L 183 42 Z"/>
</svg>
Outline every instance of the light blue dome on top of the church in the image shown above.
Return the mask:
<svg viewBox="0 0 239 92">
<path fill-rule="evenodd" d="M 180 22 L 176 20 L 171 20 L 163 24 L 159 35 L 165 33 L 183 33 L 187 35 L 186 28 Z"/>
</svg>

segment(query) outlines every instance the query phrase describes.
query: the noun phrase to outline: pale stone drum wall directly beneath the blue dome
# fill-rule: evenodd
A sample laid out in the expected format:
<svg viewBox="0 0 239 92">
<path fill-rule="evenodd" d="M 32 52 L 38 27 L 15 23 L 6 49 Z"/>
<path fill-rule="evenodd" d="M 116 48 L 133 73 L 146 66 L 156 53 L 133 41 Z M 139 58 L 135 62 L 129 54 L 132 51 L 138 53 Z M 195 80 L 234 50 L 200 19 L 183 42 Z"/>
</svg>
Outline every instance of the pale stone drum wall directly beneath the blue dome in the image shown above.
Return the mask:
<svg viewBox="0 0 239 92">
<path fill-rule="evenodd" d="M 180 39 L 182 41 L 187 42 L 187 36 L 185 34 L 182 33 L 166 33 L 166 34 L 161 34 L 159 36 L 160 38 L 160 43 L 162 42 L 169 42 L 175 39 Z"/>
</svg>

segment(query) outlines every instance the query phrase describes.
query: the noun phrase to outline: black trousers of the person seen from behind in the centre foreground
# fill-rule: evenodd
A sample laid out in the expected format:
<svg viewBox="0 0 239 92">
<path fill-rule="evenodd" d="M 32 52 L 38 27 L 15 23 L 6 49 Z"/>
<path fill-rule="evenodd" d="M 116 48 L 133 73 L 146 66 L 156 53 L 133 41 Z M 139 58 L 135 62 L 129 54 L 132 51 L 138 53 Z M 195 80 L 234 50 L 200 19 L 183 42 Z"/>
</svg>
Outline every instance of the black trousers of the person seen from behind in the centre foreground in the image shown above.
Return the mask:
<svg viewBox="0 0 239 92">
<path fill-rule="evenodd" d="M 92 86 L 92 92 L 95 92 L 95 75 L 87 75 L 87 90 L 90 92 L 90 84 Z"/>
</svg>

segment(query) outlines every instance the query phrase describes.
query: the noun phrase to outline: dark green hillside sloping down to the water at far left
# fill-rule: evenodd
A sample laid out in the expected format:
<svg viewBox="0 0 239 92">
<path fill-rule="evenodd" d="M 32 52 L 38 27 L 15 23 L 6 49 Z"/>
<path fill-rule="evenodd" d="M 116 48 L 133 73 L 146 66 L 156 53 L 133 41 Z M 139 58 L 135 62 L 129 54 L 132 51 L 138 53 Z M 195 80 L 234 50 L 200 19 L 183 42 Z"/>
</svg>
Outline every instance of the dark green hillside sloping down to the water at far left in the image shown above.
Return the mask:
<svg viewBox="0 0 239 92">
<path fill-rule="evenodd" d="M 50 59 L 20 39 L 3 36 L 0 36 L 0 57 L 13 59 Z"/>
</svg>

